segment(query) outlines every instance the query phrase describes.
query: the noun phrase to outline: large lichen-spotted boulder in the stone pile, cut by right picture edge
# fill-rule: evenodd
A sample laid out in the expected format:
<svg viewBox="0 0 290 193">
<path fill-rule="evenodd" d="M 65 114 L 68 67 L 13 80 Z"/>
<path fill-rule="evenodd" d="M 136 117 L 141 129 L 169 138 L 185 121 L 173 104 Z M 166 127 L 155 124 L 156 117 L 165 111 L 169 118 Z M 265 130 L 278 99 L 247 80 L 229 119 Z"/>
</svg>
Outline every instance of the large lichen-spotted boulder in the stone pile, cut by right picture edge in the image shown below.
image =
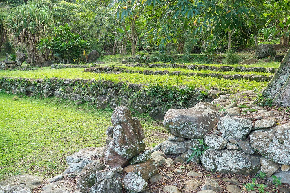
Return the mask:
<svg viewBox="0 0 290 193">
<path fill-rule="evenodd" d="M 290 123 L 250 134 L 251 147 L 275 163 L 290 165 Z"/>
</svg>

